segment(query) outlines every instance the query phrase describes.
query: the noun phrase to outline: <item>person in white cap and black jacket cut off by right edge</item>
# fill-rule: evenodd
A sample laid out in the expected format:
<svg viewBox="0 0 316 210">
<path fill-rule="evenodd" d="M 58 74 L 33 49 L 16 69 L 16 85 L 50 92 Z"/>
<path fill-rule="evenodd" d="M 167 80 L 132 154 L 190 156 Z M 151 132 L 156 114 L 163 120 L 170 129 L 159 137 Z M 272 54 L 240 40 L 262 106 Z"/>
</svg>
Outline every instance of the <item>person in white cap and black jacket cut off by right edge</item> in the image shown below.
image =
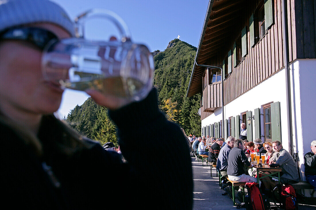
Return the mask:
<svg viewBox="0 0 316 210">
<path fill-rule="evenodd" d="M 304 156 L 305 177 L 309 184 L 316 190 L 316 140 L 311 143 L 311 152 Z"/>
</svg>

